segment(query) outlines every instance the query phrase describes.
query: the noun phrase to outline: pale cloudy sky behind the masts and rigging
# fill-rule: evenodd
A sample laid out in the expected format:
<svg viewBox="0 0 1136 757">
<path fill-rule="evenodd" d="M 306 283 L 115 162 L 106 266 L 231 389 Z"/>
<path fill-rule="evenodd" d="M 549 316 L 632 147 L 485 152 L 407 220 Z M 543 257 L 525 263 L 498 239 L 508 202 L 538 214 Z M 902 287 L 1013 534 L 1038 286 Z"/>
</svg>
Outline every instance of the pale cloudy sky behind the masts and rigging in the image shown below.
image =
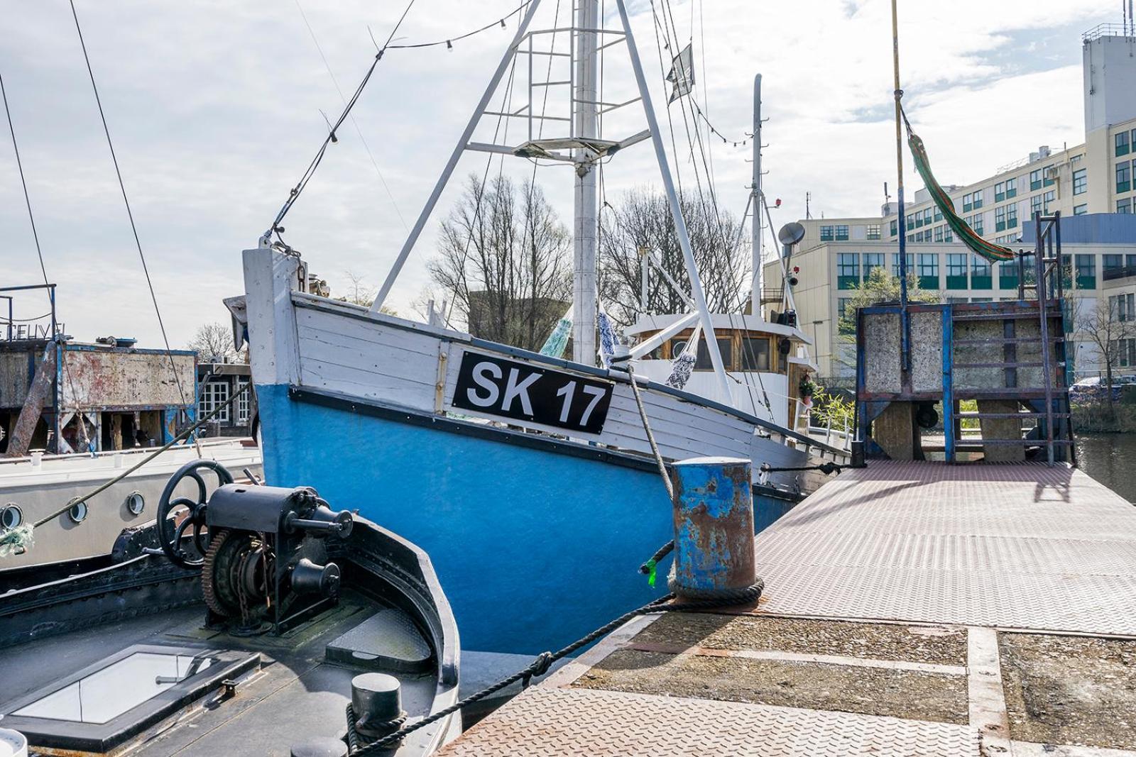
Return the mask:
<svg viewBox="0 0 1136 757">
<path fill-rule="evenodd" d="M 373 37 L 382 44 L 391 34 L 406 0 L 75 1 L 169 344 L 183 347 L 200 325 L 228 321 L 222 298 L 243 292 L 241 250 L 269 227 L 327 133 L 325 115 L 334 120 L 343 110 L 341 92 L 354 91 L 374 59 Z M 386 276 L 516 31 L 519 1 L 411 5 L 396 43 L 452 39 L 502 17 L 507 28 L 452 49 L 387 50 L 376 66 L 353 120 L 283 224 L 285 241 L 333 294 L 345 294 L 352 278 L 377 287 Z M 619 27 L 615 0 L 602 2 L 604 26 Z M 752 127 L 760 73 L 769 119 L 765 188 L 783 201 L 775 225 L 802 218 L 807 193 L 813 217 L 876 215 L 885 182 L 894 195 L 889 2 L 670 0 L 676 39 L 694 48 L 693 96 L 729 140 L 705 141 L 703 133 L 705 150 L 693 153 L 680 103 L 668 109 L 662 81 L 678 45 L 660 51 L 650 0 L 627 2 L 668 159 L 684 186 L 694 186 L 704 152 L 719 207 L 742 212 L 751 149 L 741 141 Z M 542 0 L 533 28 L 565 25 L 571 5 Z M 905 109 L 942 183 L 978 180 L 1042 144 L 1084 141 L 1080 33 L 1119 23 L 1114 6 L 900 0 Z M 661 16 L 662 0 L 654 7 Z M 60 320 L 81 340 L 134 336 L 161 346 L 70 6 L 0 0 L 0 76 Z M 558 37 L 558 49 L 565 41 Z M 517 67 L 511 93 L 494 93 L 494 110 L 527 101 L 526 67 Z M 633 96 L 623 45 L 605 50 L 603 72 L 605 101 Z M 545 73 L 537 66 L 534 79 L 567 78 Z M 536 87 L 537 102 L 544 89 L 543 112 L 565 112 L 566 87 Z M 498 120 L 486 117 L 475 141 L 490 141 Z M 511 136 L 501 133 L 501 141 L 523 141 L 527 121 L 502 120 Z M 545 124 L 546 136 L 559 135 L 559 121 Z M 642 106 L 633 103 L 605 117 L 604 136 L 643 128 Z M 910 197 L 920 184 L 905 160 Z M 533 176 L 518 158 L 490 170 Z M 484 171 L 484 153 L 462 157 L 390 297 L 400 314 L 418 317 L 438 224 L 466 177 Z M 570 167 L 542 167 L 535 176 L 570 226 Z M 661 187 L 648 142 L 603 169 L 603 195 L 613 204 L 641 186 Z M 42 280 L 10 135 L 0 128 L 0 286 Z M 47 308 L 32 293 L 18 296 L 16 310 L 32 318 Z"/>
</svg>

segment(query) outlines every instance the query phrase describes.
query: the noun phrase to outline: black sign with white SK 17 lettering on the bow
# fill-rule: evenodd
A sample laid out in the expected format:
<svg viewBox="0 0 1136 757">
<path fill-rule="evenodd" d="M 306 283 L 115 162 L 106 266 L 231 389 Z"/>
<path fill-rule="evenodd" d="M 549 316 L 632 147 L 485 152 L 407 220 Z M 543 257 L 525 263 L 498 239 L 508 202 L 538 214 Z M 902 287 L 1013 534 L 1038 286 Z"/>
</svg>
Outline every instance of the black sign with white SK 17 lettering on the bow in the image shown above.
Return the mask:
<svg viewBox="0 0 1136 757">
<path fill-rule="evenodd" d="M 611 388 L 607 381 L 466 352 L 451 404 L 486 415 L 600 434 Z"/>
</svg>

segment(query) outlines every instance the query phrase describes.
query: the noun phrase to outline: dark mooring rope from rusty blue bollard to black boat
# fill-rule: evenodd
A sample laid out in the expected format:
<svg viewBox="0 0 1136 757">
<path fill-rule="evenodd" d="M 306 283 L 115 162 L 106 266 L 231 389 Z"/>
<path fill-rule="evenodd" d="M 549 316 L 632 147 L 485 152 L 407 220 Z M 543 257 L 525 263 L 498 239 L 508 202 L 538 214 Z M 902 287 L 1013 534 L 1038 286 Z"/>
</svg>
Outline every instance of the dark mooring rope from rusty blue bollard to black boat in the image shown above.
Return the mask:
<svg viewBox="0 0 1136 757">
<path fill-rule="evenodd" d="M 724 589 L 720 596 L 712 599 L 695 599 L 692 602 L 683 602 L 680 604 L 674 604 L 674 605 L 667 604 L 673 599 L 675 599 L 674 594 L 668 594 L 667 596 L 655 599 L 654 602 L 650 602 L 643 605 L 642 607 L 633 609 L 628 613 L 624 613 L 623 615 L 611 621 L 610 623 L 601 625 L 600 628 L 595 629 L 587 636 L 577 639 L 576 641 L 573 641 L 570 645 L 558 651 L 541 653 L 540 655 L 536 656 L 536 659 L 534 659 L 532 663 L 520 668 L 512 675 L 503 678 L 496 683 L 493 683 L 482 689 L 481 691 L 469 695 L 461 701 L 450 705 L 444 709 L 440 709 L 429 717 L 423 718 L 411 725 L 399 729 L 394 733 L 383 737 L 377 741 L 373 741 L 366 747 L 351 750 L 350 752 L 351 757 L 362 757 L 365 755 L 371 755 L 371 754 L 377 754 L 379 751 L 384 751 L 391 745 L 401 741 L 409 733 L 412 733 L 414 731 L 425 727 L 432 723 L 436 723 L 437 721 L 444 717 L 449 717 L 450 715 L 462 709 L 463 707 L 467 707 L 468 705 L 471 705 L 475 701 L 479 701 L 492 693 L 496 693 L 501 689 L 510 687 L 517 681 L 524 681 L 525 684 L 527 685 L 533 678 L 541 676 L 548 673 L 549 668 L 552 666 L 552 663 L 563 657 L 567 657 L 568 655 L 575 653 L 576 650 L 582 649 L 583 647 L 586 647 L 587 645 L 592 644 L 596 639 L 600 639 L 611 633 L 620 625 L 623 625 L 624 623 L 634 617 L 638 617 L 640 615 L 651 615 L 654 613 L 668 613 L 668 612 L 691 613 L 691 612 L 700 612 L 703 609 L 716 609 L 718 607 L 744 605 L 751 602 L 755 602 L 758 598 L 760 598 L 761 590 L 763 588 L 765 588 L 763 582 L 761 580 L 758 580 L 758 582 L 754 583 L 753 586 L 749 586 L 743 589 Z"/>
</svg>

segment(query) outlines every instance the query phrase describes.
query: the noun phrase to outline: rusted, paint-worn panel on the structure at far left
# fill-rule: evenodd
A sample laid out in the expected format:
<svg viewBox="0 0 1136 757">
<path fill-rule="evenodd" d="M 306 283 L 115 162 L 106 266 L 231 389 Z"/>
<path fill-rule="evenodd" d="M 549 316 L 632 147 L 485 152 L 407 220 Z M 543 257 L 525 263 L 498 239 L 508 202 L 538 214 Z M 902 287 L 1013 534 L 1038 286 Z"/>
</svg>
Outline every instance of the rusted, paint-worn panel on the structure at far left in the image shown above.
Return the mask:
<svg viewBox="0 0 1136 757">
<path fill-rule="evenodd" d="M 170 360 L 177 369 L 177 380 Z M 152 407 L 193 404 L 195 363 L 192 353 L 166 355 L 68 346 L 64 353 L 60 405 Z"/>
</svg>

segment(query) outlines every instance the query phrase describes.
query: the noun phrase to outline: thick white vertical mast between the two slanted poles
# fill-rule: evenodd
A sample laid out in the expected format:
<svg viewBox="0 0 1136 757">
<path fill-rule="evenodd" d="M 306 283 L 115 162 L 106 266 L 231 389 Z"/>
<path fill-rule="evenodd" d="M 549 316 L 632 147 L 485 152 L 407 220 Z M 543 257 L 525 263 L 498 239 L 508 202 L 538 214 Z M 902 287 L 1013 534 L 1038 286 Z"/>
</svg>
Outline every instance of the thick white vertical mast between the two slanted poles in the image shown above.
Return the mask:
<svg viewBox="0 0 1136 757">
<path fill-rule="evenodd" d="M 576 0 L 576 86 L 573 92 L 573 136 L 591 140 L 599 136 L 596 100 L 596 32 L 599 0 Z M 599 300 L 596 283 L 596 233 L 599 200 L 595 163 L 588 150 L 575 150 L 576 192 L 573 228 L 573 360 L 595 365 L 595 314 Z"/>
</svg>

